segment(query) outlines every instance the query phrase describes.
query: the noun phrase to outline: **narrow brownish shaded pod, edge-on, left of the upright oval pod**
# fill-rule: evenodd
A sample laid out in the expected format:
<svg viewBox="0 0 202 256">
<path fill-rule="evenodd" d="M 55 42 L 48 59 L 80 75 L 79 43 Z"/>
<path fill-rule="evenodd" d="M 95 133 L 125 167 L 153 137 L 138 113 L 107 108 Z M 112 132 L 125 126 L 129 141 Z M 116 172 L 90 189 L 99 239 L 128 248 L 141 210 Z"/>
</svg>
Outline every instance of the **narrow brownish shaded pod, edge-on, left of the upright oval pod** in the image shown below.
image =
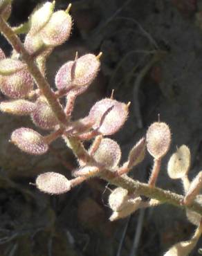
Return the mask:
<svg viewBox="0 0 202 256">
<path fill-rule="evenodd" d="M 145 149 L 145 138 L 141 138 L 129 152 L 129 163 L 127 166 L 128 168 L 136 166 L 138 165 L 138 163 L 141 163 L 143 161 L 143 159 L 145 158 Z"/>
</svg>

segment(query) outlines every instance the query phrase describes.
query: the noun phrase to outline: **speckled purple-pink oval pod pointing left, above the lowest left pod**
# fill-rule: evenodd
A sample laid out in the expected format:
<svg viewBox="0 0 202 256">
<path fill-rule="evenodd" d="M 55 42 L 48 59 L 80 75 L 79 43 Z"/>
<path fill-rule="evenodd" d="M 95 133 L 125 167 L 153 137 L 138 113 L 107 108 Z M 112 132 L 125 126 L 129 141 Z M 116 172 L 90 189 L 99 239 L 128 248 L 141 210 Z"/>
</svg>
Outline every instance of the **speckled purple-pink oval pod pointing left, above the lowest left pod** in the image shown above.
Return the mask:
<svg viewBox="0 0 202 256">
<path fill-rule="evenodd" d="M 30 128 L 22 127 L 13 131 L 11 142 L 28 154 L 42 155 L 48 151 L 44 137 Z"/>
</svg>

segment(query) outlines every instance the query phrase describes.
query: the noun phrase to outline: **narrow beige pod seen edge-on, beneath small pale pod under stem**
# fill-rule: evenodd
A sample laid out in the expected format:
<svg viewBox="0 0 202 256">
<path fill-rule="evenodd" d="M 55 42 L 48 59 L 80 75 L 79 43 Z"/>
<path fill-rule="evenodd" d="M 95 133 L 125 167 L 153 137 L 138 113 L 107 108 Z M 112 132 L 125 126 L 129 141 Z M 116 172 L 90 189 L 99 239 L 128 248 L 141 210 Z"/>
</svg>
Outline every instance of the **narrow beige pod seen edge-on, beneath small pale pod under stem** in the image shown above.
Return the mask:
<svg viewBox="0 0 202 256">
<path fill-rule="evenodd" d="M 137 197 L 134 199 L 132 203 L 129 203 L 125 208 L 122 208 L 120 211 L 115 211 L 111 214 L 111 217 L 109 218 L 110 221 L 116 221 L 117 219 L 123 219 L 139 208 L 141 208 L 142 199 L 140 197 Z"/>
</svg>

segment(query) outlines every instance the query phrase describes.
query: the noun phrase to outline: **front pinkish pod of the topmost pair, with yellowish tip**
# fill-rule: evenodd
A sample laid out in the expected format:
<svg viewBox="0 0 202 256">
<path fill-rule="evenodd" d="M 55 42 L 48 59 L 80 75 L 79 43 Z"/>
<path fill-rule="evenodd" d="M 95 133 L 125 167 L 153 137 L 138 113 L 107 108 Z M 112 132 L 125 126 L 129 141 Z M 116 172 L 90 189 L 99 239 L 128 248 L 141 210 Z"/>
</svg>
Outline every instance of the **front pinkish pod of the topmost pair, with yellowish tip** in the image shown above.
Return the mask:
<svg viewBox="0 0 202 256">
<path fill-rule="evenodd" d="M 46 46 L 59 46 L 63 44 L 71 33 L 71 16 L 59 10 L 50 17 L 48 24 L 40 32 Z"/>
</svg>

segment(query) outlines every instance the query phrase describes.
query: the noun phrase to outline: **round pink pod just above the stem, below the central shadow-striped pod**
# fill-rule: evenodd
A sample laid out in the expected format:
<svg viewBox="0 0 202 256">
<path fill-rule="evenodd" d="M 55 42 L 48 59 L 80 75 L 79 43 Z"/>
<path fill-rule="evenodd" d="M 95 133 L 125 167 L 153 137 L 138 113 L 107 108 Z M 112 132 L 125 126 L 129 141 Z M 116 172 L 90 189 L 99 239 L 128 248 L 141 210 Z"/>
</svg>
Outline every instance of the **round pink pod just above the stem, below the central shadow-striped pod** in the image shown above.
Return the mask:
<svg viewBox="0 0 202 256">
<path fill-rule="evenodd" d="M 91 151 L 91 149 L 89 149 Z M 120 162 L 121 151 L 118 143 L 110 138 L 103 138 L 98 149 L 93 154 L 95 161 L 104 168 L 113 170 Z"/>
</svg>

